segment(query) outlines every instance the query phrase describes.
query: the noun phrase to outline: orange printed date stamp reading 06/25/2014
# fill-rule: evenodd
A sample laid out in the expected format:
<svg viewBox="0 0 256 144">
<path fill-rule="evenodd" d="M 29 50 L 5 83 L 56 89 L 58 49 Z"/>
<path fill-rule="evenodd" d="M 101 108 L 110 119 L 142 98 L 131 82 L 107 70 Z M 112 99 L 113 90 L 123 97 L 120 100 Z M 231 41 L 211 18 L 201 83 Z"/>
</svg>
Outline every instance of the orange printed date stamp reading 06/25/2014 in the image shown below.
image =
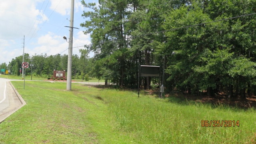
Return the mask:
<svg viewBox="0 0 256 144">
<path fill-rule="evenodd" d="M 202 127 L 239 127 L 239 120 L 201 120 Z"/>
</svg>

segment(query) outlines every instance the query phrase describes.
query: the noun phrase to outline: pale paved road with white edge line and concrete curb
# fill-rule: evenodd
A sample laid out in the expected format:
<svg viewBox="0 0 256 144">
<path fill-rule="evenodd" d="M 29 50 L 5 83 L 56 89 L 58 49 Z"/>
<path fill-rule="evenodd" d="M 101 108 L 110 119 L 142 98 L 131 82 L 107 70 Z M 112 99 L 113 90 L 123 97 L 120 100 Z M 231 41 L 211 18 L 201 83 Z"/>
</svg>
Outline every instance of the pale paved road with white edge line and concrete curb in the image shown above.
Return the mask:
<svg viewBox="0 0 256 144">
<path fill-rule="evenodd" d="M 6 78 L 0 78 L 0 123 L 26 102 Z"/>
</svg>

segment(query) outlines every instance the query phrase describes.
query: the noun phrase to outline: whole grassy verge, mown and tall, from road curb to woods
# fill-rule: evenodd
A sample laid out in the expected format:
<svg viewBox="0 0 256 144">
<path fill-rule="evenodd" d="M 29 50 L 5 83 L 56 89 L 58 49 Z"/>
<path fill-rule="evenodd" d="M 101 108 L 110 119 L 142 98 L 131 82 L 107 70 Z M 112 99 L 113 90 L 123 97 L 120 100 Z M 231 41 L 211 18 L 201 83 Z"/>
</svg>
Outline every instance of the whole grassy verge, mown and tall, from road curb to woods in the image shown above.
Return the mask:
<svg viewBox="0 0 256 144">
<path fill-rule="evenodd" d="M 13 81 L 26 105 L 0 124 L 0 144 L 255 143 L 256 111 L 128 90 Z M 239 120 L 202 127 L 201 120 Z"/>
</svg>

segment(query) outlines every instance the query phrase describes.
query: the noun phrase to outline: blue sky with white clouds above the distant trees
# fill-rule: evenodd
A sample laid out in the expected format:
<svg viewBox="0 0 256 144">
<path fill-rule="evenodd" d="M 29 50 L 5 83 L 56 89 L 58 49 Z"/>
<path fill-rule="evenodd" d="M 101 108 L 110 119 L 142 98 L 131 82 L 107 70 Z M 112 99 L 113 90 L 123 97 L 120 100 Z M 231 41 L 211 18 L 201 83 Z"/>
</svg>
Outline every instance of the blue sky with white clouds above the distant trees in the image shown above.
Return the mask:
<svg viewBox="0 0 256 144">
<path fill-rule="evenodd" d="M 98 0 L 85 0 L 98 2 Z M 23 55 L 68 54 L 71 0 L 1 0 L 0 1 L 0 64 L 11 62 Z M 81 0 L 74 3 L 73 54 L 80 56 L 79 49 L 90 44 L 90 34 L 80 24 L 88 11 Z M 25 38 L 24 38 L 25 37 Z M 24 41 L 23 41 L 24 39 Z M 93 56 L 93 54 L 90 54 Z"/>
</svg>

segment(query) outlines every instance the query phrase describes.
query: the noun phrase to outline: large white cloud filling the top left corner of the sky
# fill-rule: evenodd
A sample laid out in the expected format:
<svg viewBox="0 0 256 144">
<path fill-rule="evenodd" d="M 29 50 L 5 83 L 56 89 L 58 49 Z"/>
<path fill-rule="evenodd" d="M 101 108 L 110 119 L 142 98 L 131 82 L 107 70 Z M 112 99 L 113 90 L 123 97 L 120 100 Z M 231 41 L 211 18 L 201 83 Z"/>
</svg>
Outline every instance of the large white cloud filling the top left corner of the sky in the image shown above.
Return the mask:
<svg viewBox="0 0 256 144">
<path fill-rule="evenodd" d="M 42 15 L 42 14 L 41 14 Z M 42 21 L 47 17 L 42 15 Z M 37 29 L 40 12 L 35 0 L 4 0 L 0 4 L 0 39 L 20 38 Z"/>
</svg>

